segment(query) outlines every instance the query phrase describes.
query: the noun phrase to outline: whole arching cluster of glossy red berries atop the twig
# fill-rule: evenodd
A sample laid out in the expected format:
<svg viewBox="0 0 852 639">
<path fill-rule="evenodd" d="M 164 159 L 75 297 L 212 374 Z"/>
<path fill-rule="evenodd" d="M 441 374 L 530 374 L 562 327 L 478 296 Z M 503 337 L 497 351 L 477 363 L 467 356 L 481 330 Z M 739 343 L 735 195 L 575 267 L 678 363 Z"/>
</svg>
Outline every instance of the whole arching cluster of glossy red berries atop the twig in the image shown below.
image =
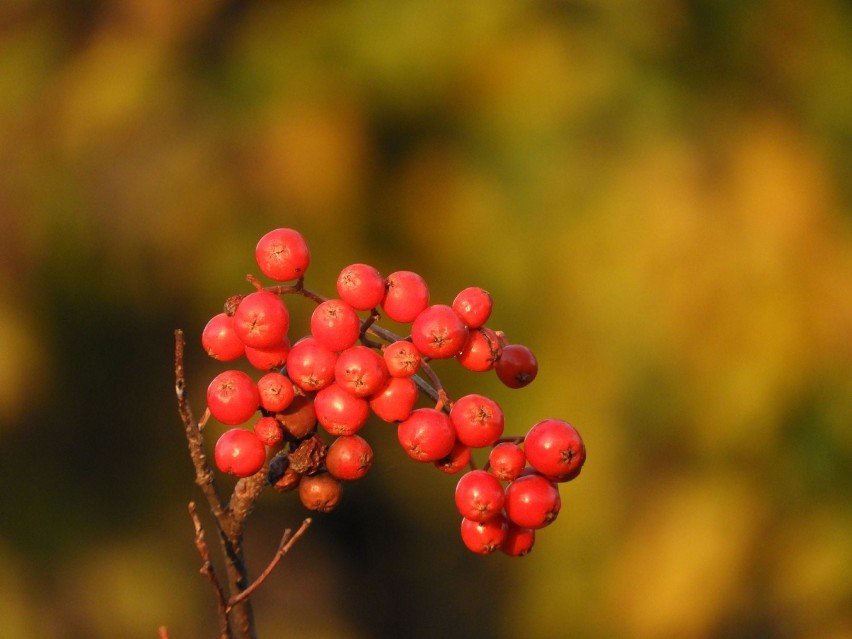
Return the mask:
<svg viewBox="0 0 852 639">
<path fill-rule="evenodd" d="M 532 352 L 486 326 L 491 296 L 470 287 L 451 305 L 430 304 L 417 273 L 383 277 L 372 266 L 352 264 L 337 279 L 338 297 L 326 299 L 304 288 L 310 251 L 293 229 L 264 235 L 255 257 L 266 277 L 292 284 L 264 287 L 249 276 L 256 290 L 229 298 L 202 333 L 211 357 L 245 357 L 263 373 L 255 380 L 227 370 L 210 383 L 210 415 L 235 426 L 216 443 L 216 466 L 237 477 L 266 472 L 276 490 L 297 489 L 307 508 L 331 510 L 342 482 L 370 470 L 373 450 L 358 433 L 372 413 L 398 424 L 399 443 L 412 459 L 446 473 L 469 469 L 455 492 L 468 548 L 529 552 L 535 531 L 559 512 L 558 483 L 579 474 L 586 451 L 576 429 L 557 419 L 539 422 L 524 437 L 504 437 L 497 402 L 479 394 L 451 401 L 441 386 L 432 360 L 454 358 L 471 371 L 493 370 L 510 388 L 535 378 Z M 310 334 L 292 345 L 286 294 L 316 303 Z M 410 323 L 410 335 L 379 326 L 381 315 Z M 421 397 L 434 405 L 417 408 Z M 240 427 L 251 421 L 250 429 Z M 475 469 L 472 451 L 489 447 L 484 469 Z"/>
</svg>

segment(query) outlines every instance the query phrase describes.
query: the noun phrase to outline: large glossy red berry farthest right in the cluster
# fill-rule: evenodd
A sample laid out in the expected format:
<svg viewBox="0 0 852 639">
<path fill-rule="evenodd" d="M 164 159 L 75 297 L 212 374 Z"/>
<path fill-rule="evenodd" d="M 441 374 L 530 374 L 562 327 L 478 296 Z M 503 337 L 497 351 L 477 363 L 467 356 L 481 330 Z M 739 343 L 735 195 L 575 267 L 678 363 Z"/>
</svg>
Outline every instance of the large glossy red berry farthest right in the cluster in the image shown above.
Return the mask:
<svg viewBox="0 0 852 639">
<path fill-rule="evenodd" d="M 561 419 L 545 419 L 530 428 L 524 451 L 530 465 L 554 481 L 574 479 L 586 461 L 580 433 Z"/>
</svg>

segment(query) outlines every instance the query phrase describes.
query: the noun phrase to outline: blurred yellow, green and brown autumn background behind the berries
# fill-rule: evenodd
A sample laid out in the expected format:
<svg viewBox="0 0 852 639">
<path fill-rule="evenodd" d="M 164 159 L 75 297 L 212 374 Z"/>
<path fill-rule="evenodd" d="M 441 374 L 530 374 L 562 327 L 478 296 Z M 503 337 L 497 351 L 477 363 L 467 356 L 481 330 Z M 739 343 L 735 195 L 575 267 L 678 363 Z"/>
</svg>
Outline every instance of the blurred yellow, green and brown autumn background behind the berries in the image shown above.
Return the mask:
<svg viewBox="0 0 852 639">
<path fill-rule="evenodd" d="M 589 458 L 530 556 L 482 558 L 456 478 L 368 425 L 261 638 L 852 636 L 850 74 L 842 0 L 6 0 L 0 634 L 215 635 L 173 330 L 200 414 L 201 329 L 289 226 L 321 293 L 488 289 L 539 377 L 450 393 Z M 263 496 L 255 574 L 296 501 Z"/>
</svg>

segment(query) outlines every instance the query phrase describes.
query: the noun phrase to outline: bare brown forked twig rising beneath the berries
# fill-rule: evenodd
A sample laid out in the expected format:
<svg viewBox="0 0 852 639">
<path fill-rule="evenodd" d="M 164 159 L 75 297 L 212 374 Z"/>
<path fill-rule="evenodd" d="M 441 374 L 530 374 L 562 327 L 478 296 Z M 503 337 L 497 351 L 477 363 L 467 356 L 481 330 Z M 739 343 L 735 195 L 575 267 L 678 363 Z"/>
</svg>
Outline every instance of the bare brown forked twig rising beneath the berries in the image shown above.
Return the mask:
<svg viewBox="0 0 852 639">
<path fill-rule="evenodd" d="M 266 568 L 251 584 L 243 557 L 243 534 L 248 516 L 255 502 L 267 485 L 264 466 L 252 477 L 240 479 L 234 487 L 227 504 L 219 497 L 214 475 L 207 461 L 204 448 L 203 426 L 209 417 L 205 411 L 201 421 L 196 421 L 187 399 L 186 376 L 184 371 L 185 340 L 183 331 L 175 331 L 175 394 L 178 413 L 184 425 L 189 455 L 195 468 L 195 483 L 201 488 L 218 532 L 220 549 L 225 562 L 227 585 L 223 586 L 213 563 L 207 545 L 204 528 L 198 516 L 195 502 L 189 504 L 189 515 L 195 527 L 195 547 L 201 556 L 200 573 L 207 577 L 216 595 L 219 620 L 219 639 L 255 639 L 254 617 L 251 609 L 251 595 L 266 581 L 281 559 L 307 531 L 311 519 L 305 519 L 295 533 L 291 529 L 284 531 L 278 550 Z M 228 596 L 226 593 L 230 593 Z M 159 629 L 160 639 L 169 639 L 168 629 Z"/>
</svg>

